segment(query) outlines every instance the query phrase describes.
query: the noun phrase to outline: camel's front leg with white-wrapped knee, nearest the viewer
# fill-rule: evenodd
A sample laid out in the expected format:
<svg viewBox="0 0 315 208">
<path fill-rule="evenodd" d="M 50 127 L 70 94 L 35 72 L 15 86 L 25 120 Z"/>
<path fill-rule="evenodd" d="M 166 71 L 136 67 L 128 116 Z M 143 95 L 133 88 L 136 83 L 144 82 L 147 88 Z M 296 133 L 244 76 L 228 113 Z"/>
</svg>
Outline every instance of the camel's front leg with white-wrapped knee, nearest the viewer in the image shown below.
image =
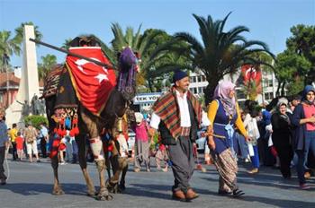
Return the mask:
<svg viewBox="0 0 315 208">
<path fill-rule="evenodd" d="M 91 138 L 91 149 L 94 154 L 94 160 L 98 169 L 100 178 L 100 191 L 97 195 L 98 200 L 112 200 L 112 195 L 109 195 L 107 187 L 105 186 L 104 171 L 106 169 L 105 160 L 102 155 L 103 143 L 99 136 Z"/>
</svg>

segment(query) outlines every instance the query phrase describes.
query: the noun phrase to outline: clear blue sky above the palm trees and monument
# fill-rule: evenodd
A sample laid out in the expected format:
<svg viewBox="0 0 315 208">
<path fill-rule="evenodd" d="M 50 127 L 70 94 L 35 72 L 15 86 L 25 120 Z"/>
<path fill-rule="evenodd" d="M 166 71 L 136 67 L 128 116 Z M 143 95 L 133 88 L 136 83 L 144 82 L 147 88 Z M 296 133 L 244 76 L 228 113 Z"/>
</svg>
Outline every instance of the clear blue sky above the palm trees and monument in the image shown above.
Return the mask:
<svg viewBox="0 0 315 208">
<path fill-rule="evenodd" d="M 270 50 L 281 53 L 290 28 L 302 23 L 315 25 L 315 0 L 0 0 L 0 30 L 11 30 L 21 22 L 34 22 L 43 34 L 43 41 L 61 47 L 65 39 L 94 33 L 105 43 L 113 36 L 111 23 L 118 22 L 142 31 L 155 28 L 169 34 L 187 31 L 198 39 L 199 30 L 192 13 L 214 20 L 229 12 L 226 30 L 238 25 L 247 26 L 247 39 L 265 41 Z M 40 56 L 53 54 L 58 62 L 65 55 L 40 47 Z M 13 56 L 11 65 L 22 65 L 22 56 Z"/>
</svg>

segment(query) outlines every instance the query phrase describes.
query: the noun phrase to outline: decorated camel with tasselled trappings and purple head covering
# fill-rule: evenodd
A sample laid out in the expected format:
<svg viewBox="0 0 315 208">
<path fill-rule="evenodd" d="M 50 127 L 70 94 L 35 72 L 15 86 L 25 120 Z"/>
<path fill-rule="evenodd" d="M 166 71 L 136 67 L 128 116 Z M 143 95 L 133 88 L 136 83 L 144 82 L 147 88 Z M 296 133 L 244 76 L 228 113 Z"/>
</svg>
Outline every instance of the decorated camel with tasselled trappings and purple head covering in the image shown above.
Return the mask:
<svg viewBox="0 0 315 208">
<path fill-rule="evenodd" d="M 85 36 L 76 37 L 76 39 L 73 39 L 70 45 L 71 47 L 97 47 L 99 46 L 99 43 L 92 36 Z M 51 149 L 52 154 L 50 156 L 51 166 L 54 172 L 54 185 L 52 191 L 53 195 L 64 194 L 64 191 L 62 190 L 58 180 L 58 153 L 56 154 L 56 151 L 58 151 L 58 143 L 61 137 L 60 135 L 66 130 L 67 123 L 65 122 L 65 125 L 62 126 L 63 123 L 60 122 L 60 117 L 61 121 L 64 121 L 62 119 L 66 118 L 67 115 L 65 114 L 66 116 L 63 116 L 63 114 L 66 113 L 68 109 L 71 109 L 71 107 L 74 107 L 72 109 L 75 109 L 75 111 L 72 110 L 69 114 L 73 116 L 72 127 L 74 127 L 74 125 L 77 127 L 76 133 L 73 134 L 76 136 L 76 143 L 78 146 L 78 161 L 85 178 L 87 195 L 93 196 L 97 200 L 112 200 L 112 195 L 109 194 L 109 190 L 117 192 L 121 171 L 121 189 L 124 189 L 124 178 L 128 169 L 128 161 L 127 159 L 120 157 L 117 145 L 113 145 L 111 157 L 113 176 L 112 178 L 109 178 L 107 181 L 105 181 L 104 170 L 106 169 L 106 164 L 108 164 L 108 162 L 106 163 L 104 160 L 102 153 L 103 142 L 100 134 L 103 129 L 108 129 L 113 134 L 112 138 L 115 138 L 115 134 L 118 132 L 117 124 L 121 122 L 121 117 L 126 113 L 130 106 L 130 100 L 132 100 L 135 96 L 135 76 L 138 72 L 137 63 L 138 57 L 131 50 L 131 48 L 123 48 L 121 54 L 118 57 L 119 75 L 116 80 L 117 84 L 112 87 L 111 91 L 109 91 L 108 99 L 106 100 L 102 110 L 97 115 L 87 109 L 83 102 L 78 98 L 77 90 L 74 90 L 75 88 L 73 82 L 71 84 L 71 80 L 73 79 L 74 75 L 71 74 L 71 69 L 67 64 L 56 66 L 47 76 L 43 98 L 46 101 L 46 113 L 49 119 L 49 135 L 53 140 Z M 109 67 L 112 66 L 109 61 L 107 64 Z M 62 85 L 62 83 L 66 83 L 66 85 Z M 88 87 L 89 86 L 86 86 L 85 88 L 87 89 Z M 67 91 L 66 97 L 65 93 L 62 96 L 60 91 Z M 73 98 L 71 98 L 69 95 L 75 96 L 72 96 Z M 68 99 L 72 99 L 72 101 L 67 103 L 70 105 L 64 105 L 62 103 L 60 104 L 60 100 L 62 102 Z M 59 117 L 56 116 L 58 113 Z M 58 127 L 59 129 L 56 130 Z M 96 168 L 98 169 L 100 189 L 97 192 L 95 191 L 94 184 L 87 171 L 85 159 L 86 140 L 88 140 L 88 142 L 91 144 Z M 110 143 L 114 143 L 114 141 L 111 141 Z M 55 154 L 53 152 L 55 152 Z"/>
</svg>

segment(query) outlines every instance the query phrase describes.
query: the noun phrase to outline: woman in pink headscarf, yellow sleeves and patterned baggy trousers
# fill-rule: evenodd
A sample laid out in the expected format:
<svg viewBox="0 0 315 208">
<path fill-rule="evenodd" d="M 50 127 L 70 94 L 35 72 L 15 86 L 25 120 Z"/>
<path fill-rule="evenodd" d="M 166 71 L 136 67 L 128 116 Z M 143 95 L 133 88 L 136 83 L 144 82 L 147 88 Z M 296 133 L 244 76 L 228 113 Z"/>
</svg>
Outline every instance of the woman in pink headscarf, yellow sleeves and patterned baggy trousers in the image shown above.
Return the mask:
<svg viewBox="0 0 315 208">
<path fill-rule="evenodd" d="M 238 111 L 235 100 L 235 85 L 232 82 L 220 82 L 214 91 L 214 100 L 208 109 L 212 128 L 208 133 L 208 145 L 219 172 L 219 195 L 238 197 L 244 192 L 238 189 L 236 160 L 237 141 L 234 137 L 234 126 L 248 140 L 248 135 Z"/>
</svg>

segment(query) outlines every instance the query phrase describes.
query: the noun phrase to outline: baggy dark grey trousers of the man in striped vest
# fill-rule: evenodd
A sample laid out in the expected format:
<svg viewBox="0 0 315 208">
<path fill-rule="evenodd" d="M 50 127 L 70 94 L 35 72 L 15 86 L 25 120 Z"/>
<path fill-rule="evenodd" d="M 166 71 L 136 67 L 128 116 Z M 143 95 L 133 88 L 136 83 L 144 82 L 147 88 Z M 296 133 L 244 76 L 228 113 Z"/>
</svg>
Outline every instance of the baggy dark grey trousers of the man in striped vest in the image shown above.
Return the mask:
<svg viewBox="0 0 315 208">
<path fill-rule="evenodd" d="M 193 176 L 194 166 L 193 143 L 189 136 L 180 136 L 175 145 L 168 145 L 168 154 L 175 178 L 172 190 L 182 190 L 186 193 L 190 187 L 189 181 Z"/>
</svg>

